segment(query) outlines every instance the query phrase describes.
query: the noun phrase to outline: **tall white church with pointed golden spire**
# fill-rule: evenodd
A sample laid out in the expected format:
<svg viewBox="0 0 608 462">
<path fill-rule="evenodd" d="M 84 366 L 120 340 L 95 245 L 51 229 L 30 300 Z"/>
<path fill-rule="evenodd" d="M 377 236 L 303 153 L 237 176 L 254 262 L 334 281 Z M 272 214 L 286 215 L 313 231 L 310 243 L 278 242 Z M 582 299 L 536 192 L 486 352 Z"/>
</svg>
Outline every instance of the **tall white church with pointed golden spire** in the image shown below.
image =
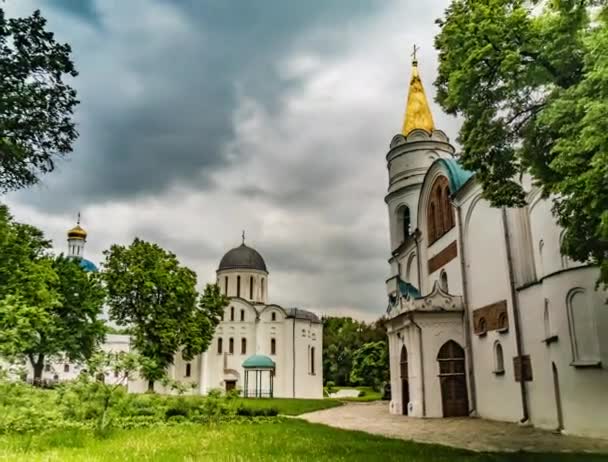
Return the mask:
<svg viewBox="0 0 608 462">
<path fill-rule="evenodd" d="M 435 127 L 414 61 L 386 155 L 390 412 L 608 436 L 608 306 L 551 202 L 493 208 Z"/>
</svg>

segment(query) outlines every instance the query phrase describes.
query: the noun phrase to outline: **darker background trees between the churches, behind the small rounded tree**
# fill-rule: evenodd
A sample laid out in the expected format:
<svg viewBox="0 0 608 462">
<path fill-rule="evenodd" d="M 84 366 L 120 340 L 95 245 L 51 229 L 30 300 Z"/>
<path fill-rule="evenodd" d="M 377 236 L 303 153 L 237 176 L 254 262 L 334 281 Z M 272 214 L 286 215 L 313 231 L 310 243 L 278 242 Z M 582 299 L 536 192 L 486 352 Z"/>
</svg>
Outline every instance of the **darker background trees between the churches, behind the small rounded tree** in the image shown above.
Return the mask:
<svg viewBox="0 0 608 462">
<path fill-rule="evenodd" d="M 368 324 L 350 317 L 323 318 L 323 378 L 326 383 L 350 385 L 355 352 L 368 342 L 385 339 L 383 319 Z"/>
</svg>

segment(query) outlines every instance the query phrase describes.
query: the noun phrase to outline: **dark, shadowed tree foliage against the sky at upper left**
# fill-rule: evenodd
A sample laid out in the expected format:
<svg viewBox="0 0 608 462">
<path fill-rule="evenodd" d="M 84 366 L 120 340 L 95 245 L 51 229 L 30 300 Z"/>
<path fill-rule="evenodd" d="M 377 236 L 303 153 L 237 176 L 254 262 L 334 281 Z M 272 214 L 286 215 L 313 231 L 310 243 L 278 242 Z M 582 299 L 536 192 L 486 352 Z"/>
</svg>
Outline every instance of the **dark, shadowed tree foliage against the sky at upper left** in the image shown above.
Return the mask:
<svg viewBox="0 0 608 462">
<path fill-rule="evenodd" d="M 0 192 L 36 183 L 71 152 L 78 100 L 64 81 L 77 75 L 70 53 L 40 11 L 6 18 L 0 8 Z"/>
</svg>

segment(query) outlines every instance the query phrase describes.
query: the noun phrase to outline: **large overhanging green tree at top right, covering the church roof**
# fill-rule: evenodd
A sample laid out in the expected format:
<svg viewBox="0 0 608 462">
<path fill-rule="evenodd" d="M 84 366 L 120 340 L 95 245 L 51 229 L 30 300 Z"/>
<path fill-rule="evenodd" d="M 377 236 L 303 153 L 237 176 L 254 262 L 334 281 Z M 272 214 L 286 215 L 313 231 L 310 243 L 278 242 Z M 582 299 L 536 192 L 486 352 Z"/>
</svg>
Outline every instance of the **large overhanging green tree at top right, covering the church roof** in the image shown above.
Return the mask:
<svg viewBox="0 0 608 462">
<path fill-rule="evenodd" d="M 542 9 L 541 9 L 542 8 Z M 608 283 L 608 3 L 454 0 L 438 21 L 437 100 L 463 117 L 463 166 L 494 206 L 532 174 L 562 252 Z"/>
</svg>

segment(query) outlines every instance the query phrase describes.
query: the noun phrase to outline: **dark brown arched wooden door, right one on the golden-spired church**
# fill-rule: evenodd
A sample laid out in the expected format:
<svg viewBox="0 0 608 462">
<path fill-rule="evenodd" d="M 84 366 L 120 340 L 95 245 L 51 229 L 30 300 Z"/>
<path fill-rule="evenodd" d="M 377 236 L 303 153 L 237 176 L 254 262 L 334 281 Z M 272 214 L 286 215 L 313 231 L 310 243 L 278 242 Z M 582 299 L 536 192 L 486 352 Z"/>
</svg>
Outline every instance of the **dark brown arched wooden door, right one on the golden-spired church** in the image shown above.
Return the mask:
<svg viewBox="0 0 608 462">
<path fill-rule="evenodd" d="M 437 355 L 441 402 L 444 417 L 466 416 L 469 413 L 464 350 L 455 341 L 443 344 Z"/>
</svg>

